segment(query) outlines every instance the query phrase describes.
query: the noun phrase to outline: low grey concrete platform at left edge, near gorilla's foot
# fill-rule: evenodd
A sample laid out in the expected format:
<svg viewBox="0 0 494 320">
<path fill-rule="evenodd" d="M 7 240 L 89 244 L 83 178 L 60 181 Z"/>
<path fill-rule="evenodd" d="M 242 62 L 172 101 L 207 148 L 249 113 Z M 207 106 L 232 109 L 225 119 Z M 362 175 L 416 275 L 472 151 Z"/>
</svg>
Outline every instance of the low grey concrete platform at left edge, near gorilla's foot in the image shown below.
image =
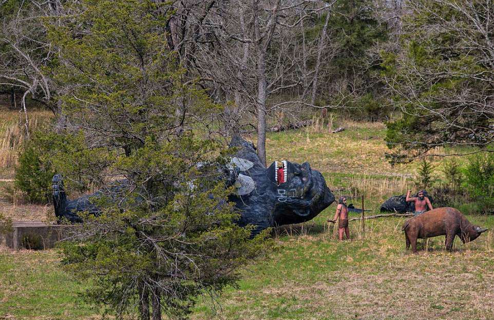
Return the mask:
<svg viewBox="0 0 494 320">
<path fill-rule="evenodd" d="M 11 230 L 0 234 L 0 244 L 14 250 L 53 248 L 70 228 L 73 228 L 73 225 L 47 224 L 43 221 L 13 221 Z"/>
</svg>

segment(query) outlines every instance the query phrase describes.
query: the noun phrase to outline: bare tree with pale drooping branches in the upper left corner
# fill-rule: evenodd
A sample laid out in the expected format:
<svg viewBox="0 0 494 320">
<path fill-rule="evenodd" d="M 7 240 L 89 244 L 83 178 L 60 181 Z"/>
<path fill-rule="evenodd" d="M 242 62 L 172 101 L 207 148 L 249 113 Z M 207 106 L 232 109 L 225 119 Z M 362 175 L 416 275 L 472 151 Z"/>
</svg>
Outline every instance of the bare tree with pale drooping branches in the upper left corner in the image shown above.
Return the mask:
<svg viewBox="0 0 494 320">
<path fill-rule="evenodd" d="M 25 130 L 29 136 L 26 99 L 42 103 L 54 114 L 59 113 L 53 101 L 53 88 L 46 67 L 53 58 L 42 17 L 58 14 L 59 1 L 19 2 L 20 6 L 0 21 L 0 85 L 23 91 Z"/>
</svg>

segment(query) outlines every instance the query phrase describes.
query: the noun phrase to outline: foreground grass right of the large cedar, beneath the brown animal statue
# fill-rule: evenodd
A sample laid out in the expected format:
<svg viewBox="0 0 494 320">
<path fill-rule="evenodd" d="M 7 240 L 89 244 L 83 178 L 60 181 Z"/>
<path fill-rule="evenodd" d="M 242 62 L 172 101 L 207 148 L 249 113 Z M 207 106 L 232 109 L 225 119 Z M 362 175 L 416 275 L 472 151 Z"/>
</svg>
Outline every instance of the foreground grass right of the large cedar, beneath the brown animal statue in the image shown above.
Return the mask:
<svg viewBox="0 0 494 320">
<path fill-rule="evenodd" d="M 224 292 L 214 310 L 204 303 L 194 319 L 490 319 L 494 302 L 494 242 L 491 234 L 470 244 L 457 239 L 453 253 L 444 237 L 421 241 L 422 252 L 404 249 L 403 219 L 367 221 L 361 237 L 339 242 L 314 227 L 280 236 L 271 259 L 245 271 L 239 288 Z M 494 227 L 494 217 L 469 217 Z M 481 276 L 481 278 L 479 277 Z M 459 308 L 461 306 L 461 308 Z"/>
</svg>

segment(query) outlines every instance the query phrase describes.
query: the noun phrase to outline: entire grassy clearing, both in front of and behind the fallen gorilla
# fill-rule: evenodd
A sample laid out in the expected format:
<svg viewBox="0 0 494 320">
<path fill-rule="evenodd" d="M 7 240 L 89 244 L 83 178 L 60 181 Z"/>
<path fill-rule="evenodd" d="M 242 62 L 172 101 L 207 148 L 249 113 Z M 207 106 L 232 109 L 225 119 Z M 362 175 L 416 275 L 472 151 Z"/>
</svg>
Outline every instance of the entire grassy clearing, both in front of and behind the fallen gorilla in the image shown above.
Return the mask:
<svg viewBox="0 0 494 320">
<path fill-rule="evenodd" d="M 268 136 L 268 158 L 309 161 L 335 195 L 376 210 L 412 185 L 416 164 L 391 167 L 381 123 L 342 123 L 343 133 L 313 128 Z M 439 159 L 431 159 L 439 167 Z M 274 234 L 270 259 L 242 271 L 238 288 L 215 303 L 200 300 L 193 319 L 494 319 L 494 235 L 444 251 L 444 237 L 405 251 L 403 218 L 373 219 L 366 233 L 350 222 L 351 241 L 335 239 L 326 219 Z M 494 216 L 469 216 L 494 228 Z M 56 250 L 0 251 L 0 319 L 93 319 L 98 310 L 78 298 L 84 290 L 64 273 Z"/>
</svg>

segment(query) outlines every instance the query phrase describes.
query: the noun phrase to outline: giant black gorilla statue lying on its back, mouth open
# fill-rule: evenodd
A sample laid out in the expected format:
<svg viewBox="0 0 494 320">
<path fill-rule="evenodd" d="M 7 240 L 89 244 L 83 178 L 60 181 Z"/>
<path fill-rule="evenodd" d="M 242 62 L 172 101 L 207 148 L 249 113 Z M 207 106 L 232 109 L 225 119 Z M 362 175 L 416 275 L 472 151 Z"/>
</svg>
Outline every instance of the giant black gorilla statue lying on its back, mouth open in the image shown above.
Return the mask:
<svg viewBox="0 0 494 320">
<path fill-rule="evenodd" d="M 254 146 L 240 137 L 230 143 L 237 152 L 225 169 L 226 184 L 235 185 L 237 193 L 230 201 L 240 211 L 237 223 L 241 227 L 254 225 L 253 234 L 269 227 L 301 223 L 311 220 L 333 201 L 334 195 L 326 186 L 324 177 L 311 169 L 309 163 L 273 162 L 264 167 Z M 118 191 L 125 181 L 110 186 L 110 194 L 118 198 Z M 75 200 L 68 200 L 60 175 L 53 177 L 53 204 L 59 222 L 82 222 L 78 212 L 86 211 L 98 216 L 101 211 L 91 202 L 102 195 L 98 191 Z M 106 193 L 105 193 L 106 194 Z"/>
</svg>

